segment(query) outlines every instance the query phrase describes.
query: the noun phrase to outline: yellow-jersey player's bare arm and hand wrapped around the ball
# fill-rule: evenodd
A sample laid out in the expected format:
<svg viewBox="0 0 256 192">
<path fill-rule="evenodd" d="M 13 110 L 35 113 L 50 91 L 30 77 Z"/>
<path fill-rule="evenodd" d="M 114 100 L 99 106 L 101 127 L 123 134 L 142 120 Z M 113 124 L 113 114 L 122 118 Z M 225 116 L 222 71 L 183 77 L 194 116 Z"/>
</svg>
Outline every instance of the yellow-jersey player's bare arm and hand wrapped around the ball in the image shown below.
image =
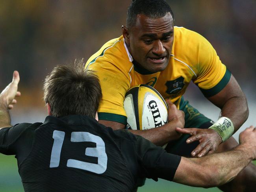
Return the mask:
<svg viewBox="0 0 256 192">
<path fill-rule="evenodd" d="M 176 106 L 171 103 L 169 100 L 166 101 L 168 105 L 168 123 L 153 129 L 147 130 L 129 130 L 135 135 L 140 135 L 157 146 L 163 146 L 171 140 L 176 140 L 180 137 L 180 133 L 176 132 L 176 127 L 184 127 L 184 112 L 176 108 Z M 99 123 L 104 124 L 105 126 L 112 127 L 113 129 L 124 129 L 124 124 L 108 121 L 108 120 L 99 120 Z"/>
</svg>

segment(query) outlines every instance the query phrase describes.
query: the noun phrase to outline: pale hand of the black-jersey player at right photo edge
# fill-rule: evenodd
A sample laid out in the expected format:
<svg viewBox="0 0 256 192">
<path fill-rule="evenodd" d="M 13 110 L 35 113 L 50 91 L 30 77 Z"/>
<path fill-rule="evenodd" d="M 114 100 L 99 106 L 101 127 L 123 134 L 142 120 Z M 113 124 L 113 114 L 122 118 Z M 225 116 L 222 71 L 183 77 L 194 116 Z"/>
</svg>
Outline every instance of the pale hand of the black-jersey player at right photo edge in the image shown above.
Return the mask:
<svg viewBox="0 0 256 192">
<path fill-rule="evenodd" d="M 239 144 L 246 144 L 247 149 L 252 148 L 254 159 L 256 159 L 256 127 L 247 127 L 239 134 Z"/>
</svg>

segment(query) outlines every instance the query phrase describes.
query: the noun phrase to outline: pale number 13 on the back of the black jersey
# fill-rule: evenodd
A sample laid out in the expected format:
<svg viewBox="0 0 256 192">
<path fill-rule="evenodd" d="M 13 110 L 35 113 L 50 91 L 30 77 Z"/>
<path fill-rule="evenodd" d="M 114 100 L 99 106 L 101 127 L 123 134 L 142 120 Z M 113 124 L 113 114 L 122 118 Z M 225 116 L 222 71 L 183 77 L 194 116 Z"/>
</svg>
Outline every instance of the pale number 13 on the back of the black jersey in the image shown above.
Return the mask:
<svg viewBox="0 0 256 192">
<path fill-rule="evenodd" d="M 65 132 L 63 131 L 53 131 L 52 138 L 54 138 L 54 143 L 52 146 L 52 154 L 50 160 L 50 168 L 58 167 L 60 161 L 60 153 L 65 137 Z M 103 174 L 107 169 L 108 156 L 106 154 L 105 143 L 102 138 L 93 135 L 88 132 L 72 132 L 71 142 L 94 142 L 96 143 L 96 148 L 86 148 L 85 155 L 98 157 L 98 164 L 78 161 L 76 159 L 68 159 L 67 167 L 77 168 L 87 170 L 96 174 Z"/>
</svg>

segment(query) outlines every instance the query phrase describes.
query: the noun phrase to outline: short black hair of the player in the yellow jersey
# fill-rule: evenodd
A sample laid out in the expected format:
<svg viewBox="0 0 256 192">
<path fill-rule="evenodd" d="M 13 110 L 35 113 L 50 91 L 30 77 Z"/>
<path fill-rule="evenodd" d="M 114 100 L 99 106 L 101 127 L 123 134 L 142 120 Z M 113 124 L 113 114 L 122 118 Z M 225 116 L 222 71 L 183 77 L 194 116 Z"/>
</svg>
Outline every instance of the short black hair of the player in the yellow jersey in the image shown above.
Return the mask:
<svg viewBox="0 0 256 192">
<path fill-rule="evenodd" d="M 138 14 L 149 18 L 161 18 L 167 13 L 171 13 L 174 20 L 173 11 L 165 0 L 133 0 L 127 10 L 126 26 L 134 26 Z"/>
</svg>

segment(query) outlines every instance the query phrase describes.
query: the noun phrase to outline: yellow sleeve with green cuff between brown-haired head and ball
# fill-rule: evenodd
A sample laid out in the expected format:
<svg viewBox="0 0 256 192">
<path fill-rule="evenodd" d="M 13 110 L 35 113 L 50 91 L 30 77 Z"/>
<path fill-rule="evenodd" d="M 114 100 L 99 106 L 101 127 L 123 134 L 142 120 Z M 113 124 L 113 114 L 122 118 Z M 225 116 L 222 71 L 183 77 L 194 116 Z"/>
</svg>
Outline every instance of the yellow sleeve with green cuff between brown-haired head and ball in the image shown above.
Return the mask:
<svg viewBox="0 0 256 192">
<path fill-rule="evenodd" d="M 98 118 L 126 124 L 127 117 L 123 104 L 125 94 L 130 88 L 130 79 L 106 57 L 98 57 L 88 68 L 95 71 L 102 89 Z"/>
</svg>

